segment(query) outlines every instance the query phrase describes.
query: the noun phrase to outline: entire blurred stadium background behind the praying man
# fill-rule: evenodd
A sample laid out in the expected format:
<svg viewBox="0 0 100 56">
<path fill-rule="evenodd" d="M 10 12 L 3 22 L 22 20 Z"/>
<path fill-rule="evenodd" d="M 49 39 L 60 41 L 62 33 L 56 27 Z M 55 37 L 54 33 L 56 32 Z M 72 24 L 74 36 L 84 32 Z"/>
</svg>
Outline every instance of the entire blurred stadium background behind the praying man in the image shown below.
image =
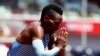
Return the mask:
<svg viewBox="0 0 100 56">
<path fill-rule="evenodd" d="M 64 9 L 62 26 L 68 29 L 72 53 L 100 56 L 100 0 L 0 0 L 0 56 L 5 56 L 17 34 L 40 19 L 42 8 L 52 3 Z"/>
</svg>

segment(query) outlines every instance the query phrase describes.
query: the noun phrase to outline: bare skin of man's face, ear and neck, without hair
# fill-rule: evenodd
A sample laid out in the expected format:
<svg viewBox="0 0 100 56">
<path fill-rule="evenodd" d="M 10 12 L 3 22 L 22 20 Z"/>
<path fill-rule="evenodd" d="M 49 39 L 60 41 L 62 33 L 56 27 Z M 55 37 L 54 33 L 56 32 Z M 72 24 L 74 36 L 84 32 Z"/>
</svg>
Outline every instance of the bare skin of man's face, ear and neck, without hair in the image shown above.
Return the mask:
<svg viewBox="0 0 100 56">
<path fill-rule="evenodd" d="M 56 12 L 53 13 L 54 15 L 49 17 L 45 16 L 44 21 L 41 26 L 44 29 L 45 33 L 52 35 L 59 27 L 60 23 L 62 22 L 62 16 Z"/>
</svg>

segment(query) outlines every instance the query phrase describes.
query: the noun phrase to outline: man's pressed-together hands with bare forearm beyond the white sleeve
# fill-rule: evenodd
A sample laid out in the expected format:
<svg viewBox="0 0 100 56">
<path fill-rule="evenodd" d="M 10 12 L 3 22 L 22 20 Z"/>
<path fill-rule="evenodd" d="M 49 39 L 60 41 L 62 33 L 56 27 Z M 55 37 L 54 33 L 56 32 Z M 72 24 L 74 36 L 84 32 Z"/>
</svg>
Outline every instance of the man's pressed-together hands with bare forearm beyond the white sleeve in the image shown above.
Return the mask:
<svg viewBox="0 0 100 56">
<path fill-rule="evenodd" d="M 60 52 L 58 53 L 58 55 L 57 56 L 65 56 L 64 54 L 64 51 L 65 51 L 65 47 L 66 47 L 66 44 L 67 44 L 67 36 L 68 36 L 68 32 L 67 32 L 67 30 L 66 30 L 66 28 L 65 27 L 63 27 L 63 28 L 61 28 L 59 31 L 58 31 L 58 34 L 53 34 L 52 35 L 52 39 L 54 39 L 53 41 L 52 41 L 52 39 L 51 39 L 51 41 L 52 42 L 50 42 L 50 44 L 51 44 L 51 49 L 53 48 L 53 47 L 55 47 L 57 44 L 58 44 L 58 42 L 59 42 L 59 39 L 63 39 L 63 41 L 65 41 L 65 43 L 63 43 L 63 44 L 65 44 L 63 47 L 62 47 L 62 49 L 60 50 Z"/>
</svg>

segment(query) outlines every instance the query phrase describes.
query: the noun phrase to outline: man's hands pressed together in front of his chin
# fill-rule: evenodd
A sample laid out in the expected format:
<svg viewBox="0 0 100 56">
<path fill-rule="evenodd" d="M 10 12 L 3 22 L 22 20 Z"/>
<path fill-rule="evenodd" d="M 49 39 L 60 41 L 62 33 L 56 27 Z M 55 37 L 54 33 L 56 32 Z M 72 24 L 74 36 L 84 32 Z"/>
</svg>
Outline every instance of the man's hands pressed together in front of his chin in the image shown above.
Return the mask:
<svg viewBox="0 0 100 56">
<path fill-rule="evenodd" d="M 59 32 L 53 34 L 55 45 L 64 48 L 67 44 L 68 32 L 65 27 L 61 28 Z M 54 46 L 54 45 L 53 45 Z"/>
</svg>

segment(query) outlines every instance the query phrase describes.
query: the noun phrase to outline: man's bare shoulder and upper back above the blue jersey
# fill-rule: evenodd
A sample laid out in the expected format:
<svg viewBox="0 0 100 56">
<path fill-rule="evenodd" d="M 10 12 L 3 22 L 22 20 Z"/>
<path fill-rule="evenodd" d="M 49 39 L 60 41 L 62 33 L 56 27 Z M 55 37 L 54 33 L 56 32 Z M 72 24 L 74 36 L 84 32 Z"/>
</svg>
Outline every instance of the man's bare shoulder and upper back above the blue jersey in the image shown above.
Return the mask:
<svg viewBox="0 0 100 56">
<path fill-rule="evenodd" d="M 34 39 L 42 39 L 43 36 L 43 28 L 33 22 L 17 36 L 16 40 L 22 44 L 32 44 Z"/>
</svg>

